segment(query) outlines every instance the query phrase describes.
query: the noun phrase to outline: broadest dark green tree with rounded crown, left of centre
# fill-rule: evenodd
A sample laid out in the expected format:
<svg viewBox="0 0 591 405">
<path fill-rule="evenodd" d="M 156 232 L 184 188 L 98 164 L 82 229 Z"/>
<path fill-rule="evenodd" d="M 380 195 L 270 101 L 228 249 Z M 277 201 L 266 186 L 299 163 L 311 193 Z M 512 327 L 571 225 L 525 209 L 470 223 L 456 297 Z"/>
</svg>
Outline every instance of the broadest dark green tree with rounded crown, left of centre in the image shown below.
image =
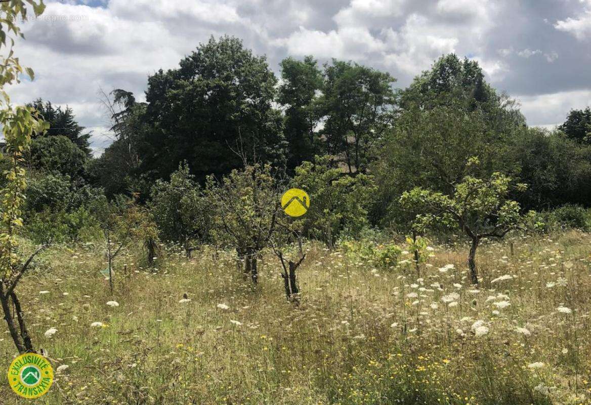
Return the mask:
<svg viewBox="0 0 591 405">
<path fill-rule="evenodd" d="M 282 118 L 272 105 L 277 79 L 265 57 L 234 37 L 211 38 L 178 69 L 148 79 L 144 171 L 168 177 L 180 161 L 197 180 L 226 174 L 244 160 L 279 163 Z"/>
</svg>

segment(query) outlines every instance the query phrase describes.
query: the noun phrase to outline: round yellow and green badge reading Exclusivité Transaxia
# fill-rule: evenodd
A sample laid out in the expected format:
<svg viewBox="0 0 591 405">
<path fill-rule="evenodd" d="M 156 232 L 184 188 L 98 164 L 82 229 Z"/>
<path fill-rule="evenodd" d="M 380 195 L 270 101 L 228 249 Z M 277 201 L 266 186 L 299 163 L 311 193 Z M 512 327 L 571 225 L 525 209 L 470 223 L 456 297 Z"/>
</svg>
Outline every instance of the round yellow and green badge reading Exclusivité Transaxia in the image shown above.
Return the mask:
<svg viewBox="0 0 591 405">
<path fill-rule="evenodd" d="M 12 391 L 21 397 L 38 398 L 49 391 L 53 383 L 53 368 L 43 356 L 23 354 L 15 358 L 8 368 L 8 383 Z"/>
</svg>

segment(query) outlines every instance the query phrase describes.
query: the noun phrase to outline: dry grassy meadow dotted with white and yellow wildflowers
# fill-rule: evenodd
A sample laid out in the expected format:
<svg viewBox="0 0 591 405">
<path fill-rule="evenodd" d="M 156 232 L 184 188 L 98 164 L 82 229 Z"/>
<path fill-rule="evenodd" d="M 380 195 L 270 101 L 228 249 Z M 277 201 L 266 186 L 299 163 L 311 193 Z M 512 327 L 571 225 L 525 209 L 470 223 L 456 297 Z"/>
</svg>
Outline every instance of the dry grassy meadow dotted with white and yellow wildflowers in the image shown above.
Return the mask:
<svg viewBox="0 0 591 405">
<path fill-rule="evenodd" d="M 131 249 L 111 294 L 100 245 L 55 246 L 19 293 L 56 380 L 33 401 L 3 383 L 0 403 L 591 403 L 591 235 L 511 242 L 480 248 L 478 289 L 463 245 L 429 247 L 417 275 L 410 254 L 384 269 L 308 243 L 298 302 L 271 254 L 253 286 L 232 252 L 148 270 Z"/>
</svg>

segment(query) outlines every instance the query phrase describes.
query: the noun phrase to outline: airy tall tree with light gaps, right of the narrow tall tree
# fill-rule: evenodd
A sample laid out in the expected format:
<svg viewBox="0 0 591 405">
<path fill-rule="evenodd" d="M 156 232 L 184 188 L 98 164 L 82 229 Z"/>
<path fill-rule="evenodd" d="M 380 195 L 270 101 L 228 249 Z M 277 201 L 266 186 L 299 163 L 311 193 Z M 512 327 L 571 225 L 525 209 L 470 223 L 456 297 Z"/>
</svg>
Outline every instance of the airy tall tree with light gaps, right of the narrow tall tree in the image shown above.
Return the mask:
<svg viewBox="0 0 591 405">
<path fill-rule="evenodd" d="M 372 148 L 391 127 L 394 82 L 390 74 L 356 63 L 333 60 L 324 66 L 322 134 L 349 173 L 366 171 Z"/>
</svg>

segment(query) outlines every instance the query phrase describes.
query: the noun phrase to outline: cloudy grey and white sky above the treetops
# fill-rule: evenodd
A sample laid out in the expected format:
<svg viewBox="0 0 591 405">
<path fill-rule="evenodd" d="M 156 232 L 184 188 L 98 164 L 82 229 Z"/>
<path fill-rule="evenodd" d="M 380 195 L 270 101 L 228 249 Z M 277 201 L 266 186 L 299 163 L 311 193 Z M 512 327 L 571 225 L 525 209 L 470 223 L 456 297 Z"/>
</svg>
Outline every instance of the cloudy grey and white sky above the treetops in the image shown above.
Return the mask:
<svg viewBox="0 0 591 405">
<path fill-rule="evenodd" d="M 109 142 L 99 90 L 141 99 L 148 75 L 210 35 L 242 38 L 275 72 L 313 54 L 387 70 L 397 86 L 454 52 L 478 60 L 530 125 L 591 105 L 591 0 L 63 0 L 23 27 L 18 56 L 37 77 L 12 98 L 69 105 L 96 153 Z"/>
</svg>

